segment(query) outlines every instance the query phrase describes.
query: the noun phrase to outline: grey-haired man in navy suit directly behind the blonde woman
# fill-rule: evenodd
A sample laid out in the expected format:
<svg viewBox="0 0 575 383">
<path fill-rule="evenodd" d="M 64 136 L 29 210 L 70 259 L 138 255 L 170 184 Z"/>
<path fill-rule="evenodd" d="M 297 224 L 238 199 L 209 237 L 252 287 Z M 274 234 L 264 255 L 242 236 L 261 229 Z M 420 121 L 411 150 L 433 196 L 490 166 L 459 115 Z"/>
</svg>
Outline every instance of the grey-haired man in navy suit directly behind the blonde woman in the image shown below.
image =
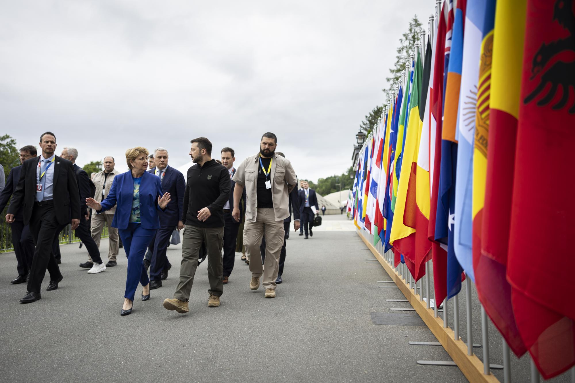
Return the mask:
<svg viewBox="0 0 575 383">
<path fill-rule="evenodd" d="M 148 249 L 152 253 L 150 262 L 150 289 L 162 287 L 162 280 L 168 277 L 171 268 L 166 257 L 166 250 L 174 229 L 182 230 L 183 195 L 186 192 L 186 181 L 177 169 L 168 167 L 168 151 L 164 148 L 154 150 L 155 168 L 148 173 L 160 177 L 162 190 L 170 193 L 171 201 L 166 210 L 159 212 L 160 228 L 152 238 Z"/>
</svg>

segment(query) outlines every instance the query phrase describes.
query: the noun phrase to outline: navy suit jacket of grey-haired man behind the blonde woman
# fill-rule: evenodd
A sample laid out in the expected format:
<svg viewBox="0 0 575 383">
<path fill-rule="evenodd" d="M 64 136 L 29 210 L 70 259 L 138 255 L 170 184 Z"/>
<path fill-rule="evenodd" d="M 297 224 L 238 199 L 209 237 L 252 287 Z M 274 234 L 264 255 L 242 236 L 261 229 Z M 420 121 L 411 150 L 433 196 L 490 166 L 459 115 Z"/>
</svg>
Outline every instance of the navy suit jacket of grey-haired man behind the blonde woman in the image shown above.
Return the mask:
<svg viewBox="0 0 575 383">
<path fill-rule="evenodd" d="M 148 173 L 152 174 L 155 172 L 156 168 L 152 168 L 148 171 Z M 182 172 L 168 166 L 161 182 L 162 191 L 164 193 L 170 193 L 172 200 L 168 203 L 168 206 L 166 206 L 166 210 L 159 214 L 160 225 L 175 227 L 178 225 L 179 220 L 183 220 L 183 195 L 186 192 L 186 181 L 183 179 Z"/>
</svg>

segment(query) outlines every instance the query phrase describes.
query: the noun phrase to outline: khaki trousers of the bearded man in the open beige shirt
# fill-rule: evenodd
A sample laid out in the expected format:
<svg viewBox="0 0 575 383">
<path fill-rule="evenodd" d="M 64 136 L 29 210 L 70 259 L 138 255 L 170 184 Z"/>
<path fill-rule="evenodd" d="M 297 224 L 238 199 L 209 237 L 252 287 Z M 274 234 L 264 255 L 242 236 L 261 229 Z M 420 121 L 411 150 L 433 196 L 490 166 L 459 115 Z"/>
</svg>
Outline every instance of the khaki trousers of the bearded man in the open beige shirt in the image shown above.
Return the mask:
<svg viewBox="0 0 575 383">
<path fill-rule="evenodd" d="M 262 244 L 264 235 L 266 236 L 266 261 L 262 265 L 259 246 Z M 260 277 L 263 274 L 262 286 L 266 289 L 275 290 L 284 235 L 283 219 L 275 220 L 273 208 L 258 208 L 256 222 L 246 221 L 244 245 L 247 258 L 250 260 L 250 271 L 252 277 Z"/>
</svg>

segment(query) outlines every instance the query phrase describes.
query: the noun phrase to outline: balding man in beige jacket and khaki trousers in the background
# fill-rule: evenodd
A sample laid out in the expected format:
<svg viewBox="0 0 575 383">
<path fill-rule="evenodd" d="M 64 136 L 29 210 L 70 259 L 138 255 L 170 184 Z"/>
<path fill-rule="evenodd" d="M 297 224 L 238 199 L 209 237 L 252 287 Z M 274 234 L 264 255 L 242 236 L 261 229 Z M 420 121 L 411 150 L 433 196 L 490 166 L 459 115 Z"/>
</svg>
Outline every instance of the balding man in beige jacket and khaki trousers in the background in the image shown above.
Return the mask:
<svg viewBox="0 0 575 383">
<path fill-rule="evenodd" d="M 120 172 L 114 169 L 114 165 L 116 165 L 114 157 L 108 156 L 104 158 L 104 170 L 96 173 L 94 176 L 94 185 L 96 185 L 94 199 L 98 202 L 102 202 L 102 200 L 108 196 L 114 177 L 120 174 Z M 98 245 L 98 248 L 100 247 L 100 237 L 102 235 L 102 230 L 104 230 L 104 225 L 108 226 L 110 248 L 108 250 L 107 268 L 116 266 L 116 256 L 118 255 L 118 229 L 116 229 L 116 227 L 112 227 L 114 212 L 116 212 L 116 206 L 110 210 L 106 210 L 103 214 L 93 214 L 90 226 L 92 238 L 96 242 L 96 245 Z M 92 260 L 89 259 L 86 264 L 90 264 L 91 262 Z"/>
</svg>

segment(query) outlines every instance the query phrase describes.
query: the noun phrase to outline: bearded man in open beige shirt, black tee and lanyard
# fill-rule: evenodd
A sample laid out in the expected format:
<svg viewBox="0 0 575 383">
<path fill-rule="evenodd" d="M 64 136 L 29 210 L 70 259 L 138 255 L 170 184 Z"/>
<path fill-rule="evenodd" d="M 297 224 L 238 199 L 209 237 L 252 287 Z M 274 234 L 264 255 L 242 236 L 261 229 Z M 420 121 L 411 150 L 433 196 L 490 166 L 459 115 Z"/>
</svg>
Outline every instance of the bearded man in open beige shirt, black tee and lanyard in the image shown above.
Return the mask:
<svg viewBox="0 0 575 383">
<path fill-rule="evenodd" d="M 296 187 L 297 177 L 290 161 L 275 154 L 277 137 L 264 133 L 260 152 L 242 161 L 233 176 L 233 218 L 240 219 L 240 199 L 246 188 L 246 224 L 244 246 L 250 259 L 252 278 L 250 289 L 259 288 L 263 274 L 265 297 L 275 297 L 275 280 L 278 277 L 279 255 L 283 246 L 283 219 L 289 216 L 289 192 Z M 266 261 L 262 267 L 259 246 L 266 236 Z"/>
</svg>

